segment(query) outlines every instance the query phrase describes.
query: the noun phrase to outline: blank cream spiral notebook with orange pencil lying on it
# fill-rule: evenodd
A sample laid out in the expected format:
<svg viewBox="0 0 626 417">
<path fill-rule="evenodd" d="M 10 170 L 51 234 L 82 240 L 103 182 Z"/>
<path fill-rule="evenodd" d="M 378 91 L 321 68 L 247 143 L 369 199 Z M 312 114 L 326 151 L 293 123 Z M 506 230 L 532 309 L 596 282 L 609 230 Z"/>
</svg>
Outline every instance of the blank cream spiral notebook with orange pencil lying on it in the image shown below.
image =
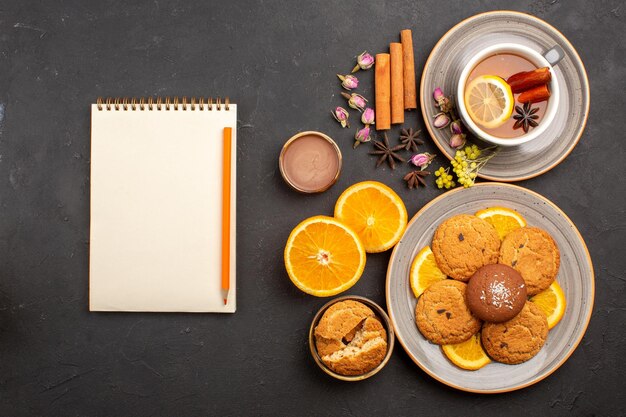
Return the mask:
<svg viewBox="0 0 626 417">
<path fill-rule="evenodd" d="M 91 311 L 235 312 L 236 125 L 228 99 L 91 106 Z"/>
</svg>

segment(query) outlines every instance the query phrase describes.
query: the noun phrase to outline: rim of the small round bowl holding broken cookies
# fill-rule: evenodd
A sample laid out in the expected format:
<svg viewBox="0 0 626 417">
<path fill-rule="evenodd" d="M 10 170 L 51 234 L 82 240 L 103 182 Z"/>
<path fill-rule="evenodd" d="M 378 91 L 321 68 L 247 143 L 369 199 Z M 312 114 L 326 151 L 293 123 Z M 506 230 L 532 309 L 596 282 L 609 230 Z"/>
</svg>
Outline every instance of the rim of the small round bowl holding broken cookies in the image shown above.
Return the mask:
<svg viewBox="0 0 626 417">
<path fill-rule="evenodd" d="M 340 301 L 345 301 L 345 300 L 358 301 L 358 302 L 365 304 L 369 308 L 371 308 L 376 314 L 376 317 L 382 323 L 383 327 L 385 328 L 385 331 L 387 332 L 387 353 L 385 354 L 385 357 L 383 358 L 382 362 L 378 364 L 376 368 L 361 375 L 341 375 L 341 374 L 336 373 L 332 369 L 328 368 L 324 364 L 324 362 L 322 362 L 322 359 L 317 353 L 317 348 L 315 347 L 315 328 L 317 327 L 317 324 L 319 323 L 320 319 L 322 318 L 322 316 L 324 315 L 324 313 L 330 306 L 332 306 L 335 303 L 338 303 Z M 346 295 L 343 297 L 338 297 L 324 304 L 322 308 L 319 309 L 315 317 L 313 318 L 313 321 L 311 322 L 311 328 L 309 329 L 309 347 L 311 349 L 311 355 L 313 356 L 315 363 L 322 369 L 322 371 L 326 372 L 328 375 L 332 376 L 333 378 L 337 378 L 342 381 L 350 381 L 350 382 L 362 381 L 373 375 L 376 375 L 381 369 L 385 367 L 387 362 L 389 362 L 389 358 L 391 358 L 391 353 L 393 352 L 394 342 L 395 342 L 395 334 L 393 332 L 393 326 L 391 325 L 391 322 L 389 321 L 389 316 L 387 316 L 387 313 L 385 312 L 385 310 L 383 310 L 382 307 L 380 307 L 378 304 L 376 304 L 372 300 L 365 298 L 365 297 L 358 296 L 358 295 Z"/>
</svg>

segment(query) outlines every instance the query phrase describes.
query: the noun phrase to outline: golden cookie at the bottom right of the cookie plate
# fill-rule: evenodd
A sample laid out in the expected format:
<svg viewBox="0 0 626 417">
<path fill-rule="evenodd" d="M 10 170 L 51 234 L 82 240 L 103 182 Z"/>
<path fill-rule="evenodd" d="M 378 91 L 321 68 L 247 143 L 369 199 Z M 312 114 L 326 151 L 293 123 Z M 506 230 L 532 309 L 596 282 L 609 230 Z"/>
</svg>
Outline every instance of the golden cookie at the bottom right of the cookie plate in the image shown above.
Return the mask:
<svg viewBox="0 0 626 417">
<path fill-rule="evenodd" d="M 485 351 L 498 362 L 510 365 L 535 356 L 548 337 L 548 320 L 543 311 L 527 301 L 520 313 L 504 323 L 485 323 L 482 330 Z"/>
</svg>

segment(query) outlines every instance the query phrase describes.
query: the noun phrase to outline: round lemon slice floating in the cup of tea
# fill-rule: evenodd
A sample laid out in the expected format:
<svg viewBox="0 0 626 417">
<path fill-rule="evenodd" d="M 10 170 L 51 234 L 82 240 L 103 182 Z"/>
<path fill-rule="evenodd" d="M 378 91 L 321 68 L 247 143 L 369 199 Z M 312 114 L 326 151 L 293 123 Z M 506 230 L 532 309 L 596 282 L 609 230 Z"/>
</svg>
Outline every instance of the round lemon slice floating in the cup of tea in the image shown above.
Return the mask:
<svg viewBox="0 0 626 417">
<path fill-rule="evenodd" d="M 511 87 L 502 78 L 481 75 L 465 87 L 465 107 L 474 122 L 493 129 L 509 120 L 515 99 Z"/>
</svg>

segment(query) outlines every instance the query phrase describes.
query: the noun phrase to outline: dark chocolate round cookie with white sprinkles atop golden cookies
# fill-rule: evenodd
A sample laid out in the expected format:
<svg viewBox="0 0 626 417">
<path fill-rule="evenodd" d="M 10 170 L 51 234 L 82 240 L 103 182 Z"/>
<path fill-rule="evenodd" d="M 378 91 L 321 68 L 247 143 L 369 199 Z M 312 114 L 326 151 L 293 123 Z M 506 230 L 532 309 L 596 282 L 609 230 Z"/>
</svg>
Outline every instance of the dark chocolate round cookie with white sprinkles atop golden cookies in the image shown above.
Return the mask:
<svg viewBox="0 0 626 417">
<path fill-rule="evenodd" d="M 467 305 L 484 321 L 500 323 L 512 319 L 526 303 L 522 276 L 508 265 L 480 268 L 467 285 Z"/>
</svg>

